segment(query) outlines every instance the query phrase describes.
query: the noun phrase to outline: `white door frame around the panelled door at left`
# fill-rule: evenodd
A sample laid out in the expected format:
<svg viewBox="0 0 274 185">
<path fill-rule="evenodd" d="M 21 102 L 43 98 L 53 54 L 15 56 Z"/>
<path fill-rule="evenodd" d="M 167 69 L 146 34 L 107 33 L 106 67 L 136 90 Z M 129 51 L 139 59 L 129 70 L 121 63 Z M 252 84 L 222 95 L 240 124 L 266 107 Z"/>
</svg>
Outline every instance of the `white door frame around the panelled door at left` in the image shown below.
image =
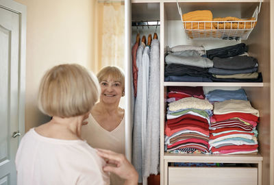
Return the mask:
<svg viewBox="0 0 274 185">
<path fill-rule="evenodd" d="M 0 0 L 0 7 L 19 14 L 19 69 L 18 69 L 18 131 L 21 136 L 25 134 L 25 64 L 26 64 L 26 30 L 27 30 L 27 6 L 13 0 Z M 12 134 L 12 133 L 10 133 Z"/>
</svg>

